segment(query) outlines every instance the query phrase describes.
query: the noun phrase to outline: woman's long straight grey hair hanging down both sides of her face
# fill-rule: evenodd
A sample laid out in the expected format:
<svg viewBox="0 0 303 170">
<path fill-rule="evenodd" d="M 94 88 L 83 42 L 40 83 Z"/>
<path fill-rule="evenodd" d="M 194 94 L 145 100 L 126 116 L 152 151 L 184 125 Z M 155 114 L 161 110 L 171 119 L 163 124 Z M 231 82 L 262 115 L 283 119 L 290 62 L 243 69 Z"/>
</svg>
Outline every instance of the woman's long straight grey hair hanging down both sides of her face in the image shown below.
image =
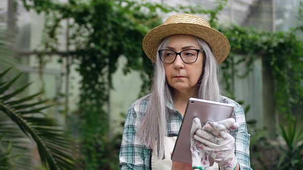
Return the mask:
<svg viewBox="0 0 303 170">
<path fill-rule="evenodd" d="M 164 38 L 159 45 L 158 50 L 164 49 L 169 41 L 169 36 Z M 198 80 L 198 98 L 212 101 L 220 101 L 220 88 L 217 78 L 218 65 L 209 45 L 197 37 L 198 45 L 204 50 L 204 68 L 202 76 Z M 158 51 L 157 50 L 157 51 Z M 164 158 L 164 137 L 166 132 L 166 103 L 172 103 L 171 87 L 168 86 L 165 79 L 165 70 L 163 62 L 157 59 L 154 69 L 153 86 L 149 96 L 149 102 L 146 114 L 141 122 L 138 136 L 144 145 L 154 150 L 158 159 Z"/>
</svg>

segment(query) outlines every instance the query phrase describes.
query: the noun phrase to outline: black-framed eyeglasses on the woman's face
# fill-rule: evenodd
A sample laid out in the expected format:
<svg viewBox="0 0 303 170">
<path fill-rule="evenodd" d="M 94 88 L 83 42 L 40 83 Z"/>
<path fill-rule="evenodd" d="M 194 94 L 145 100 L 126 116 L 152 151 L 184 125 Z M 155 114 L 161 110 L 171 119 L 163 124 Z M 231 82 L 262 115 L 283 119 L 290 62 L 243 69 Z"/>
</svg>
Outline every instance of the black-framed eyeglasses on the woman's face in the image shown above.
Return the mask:
<svg viewBox="0 0 303 170">
<path fill-rule="evenodd" d="M 181 59 L 185 63 L 193 63 L 197 61 L 199 52 L 202 52 L 203 50 L 199 49 L 186 49 L 182 50 L 179 53 L 177 53 L 174 50 L 159 50 L 159 56 L 162 62 L 164 63 L 173 63 L 177 55 L 180 55 Z"/>
</svg>

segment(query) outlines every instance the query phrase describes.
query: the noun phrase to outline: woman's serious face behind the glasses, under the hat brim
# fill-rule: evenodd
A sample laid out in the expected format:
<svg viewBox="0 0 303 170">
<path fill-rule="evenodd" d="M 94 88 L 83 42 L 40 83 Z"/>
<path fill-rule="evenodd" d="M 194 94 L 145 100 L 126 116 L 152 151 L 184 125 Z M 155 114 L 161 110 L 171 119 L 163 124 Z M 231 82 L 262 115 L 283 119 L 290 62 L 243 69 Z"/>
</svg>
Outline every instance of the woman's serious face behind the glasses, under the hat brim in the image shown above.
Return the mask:
<svg viewBox="0 0 303 170">
<path fill-rule="evenodd" d="M 196 37 L 192 35 L 177 34 L 169 38 L 165 49 L 180 52 L 186 49 L 200 49 Z M 163 63 L 166 81 L 181 93 L 196 93 L 197 82 L 202 74 L 203 52 L 198 53 L 198 58 L 193 63 L 185 63 L 180 55 L 177 55 L 173 63 Z"/>
</svg>

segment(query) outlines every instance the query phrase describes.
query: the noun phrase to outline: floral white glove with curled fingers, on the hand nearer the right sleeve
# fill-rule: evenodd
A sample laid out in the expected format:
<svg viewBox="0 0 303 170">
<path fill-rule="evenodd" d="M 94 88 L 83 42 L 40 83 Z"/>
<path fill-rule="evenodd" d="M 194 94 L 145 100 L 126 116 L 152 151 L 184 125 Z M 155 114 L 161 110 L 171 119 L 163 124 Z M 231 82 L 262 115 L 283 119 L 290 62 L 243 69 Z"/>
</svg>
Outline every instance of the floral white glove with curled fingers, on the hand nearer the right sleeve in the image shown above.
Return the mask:
<svg viewBox="0 0 303 170">
<path fill-rule="evenodd" d="M 218 122 L 206 122 L 202 129 L 196 130 L 194 139 L 201 151 L 211 156 L 221 169 L 233 170 L 237 166 L 235 138 L 228 132 L 235 130 L 239 124 L 229 118 Z"/>
</svg>

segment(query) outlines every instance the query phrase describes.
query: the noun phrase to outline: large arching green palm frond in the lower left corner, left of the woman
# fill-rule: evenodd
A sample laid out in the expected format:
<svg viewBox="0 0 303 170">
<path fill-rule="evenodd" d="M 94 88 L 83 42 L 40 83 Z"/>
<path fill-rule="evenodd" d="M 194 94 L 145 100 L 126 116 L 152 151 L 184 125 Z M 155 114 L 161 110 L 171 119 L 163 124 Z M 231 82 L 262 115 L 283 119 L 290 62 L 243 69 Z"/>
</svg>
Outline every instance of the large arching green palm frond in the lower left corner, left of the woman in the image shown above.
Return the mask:
<svg viewBox="0 0 303 170">
<path fill-rule="evenodd" d="M 4 72 L 7 72 L 5 70 Z M 5 75 L 2 72 L 1 75 Z M 42 163 L 50 169 L 73 169 L 72 151 L 73 142 L 66 136 L 66 132 L 58 121 L 44 116 L 42 111 L 51 105 L 46 105 L 46 100 L 33 102 L 41 93 L 16 99 L 16 95 L 24 91 L 30 84 L 12 90 L 10 87 L 21 76 L 18 74 L 12 80 L 0 87 L 0 113 L 6 114 L 15 123 L 16 128 L 11 128 L 8 138 L 20 137 L 13 132 L 21 131 L 35 141 Z M 10 93 L 7 91 L 10 90 Z M 2 126 L 9 124 L 2 122 Z M 0 125 L 1 128 L 1 125 Z M 0 129 L 0 132 L 4 131 Z M 14 140 L 16 141 L 16 140 Z"/>
</svg>

